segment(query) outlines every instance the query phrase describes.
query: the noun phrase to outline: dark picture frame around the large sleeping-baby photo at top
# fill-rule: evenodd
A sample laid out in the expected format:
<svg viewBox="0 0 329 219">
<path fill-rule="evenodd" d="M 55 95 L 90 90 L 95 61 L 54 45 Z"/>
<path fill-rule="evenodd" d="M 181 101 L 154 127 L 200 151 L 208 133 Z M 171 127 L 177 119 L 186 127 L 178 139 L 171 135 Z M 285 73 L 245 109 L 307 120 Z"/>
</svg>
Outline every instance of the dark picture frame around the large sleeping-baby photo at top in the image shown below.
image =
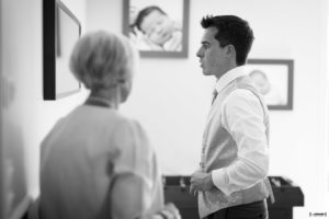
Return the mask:
<svg viewBox="0 0 329 219">
<path fill-rule="evenodd" d="M 138 2 L 138 0 L 135 0 L 134 2 Z M 158 1 L 156 0 L 149 0 L 149 5 L 157 5 Z M 161 1 L 162 4 L 172 4 L 174 3 L 175 8 L 181 11 L 182 21 L 181 23 L 181 47 L 178 50 L 171 50 L 170 48 L 167 49 L 154 49 L 154 48 L 146 48 L 140 49 L 136 45 L 136 42 L 133 42 L 133 44 L 136 45 L 137 49 L 139 50 L 139 54 L 141 57 L 148 57 L 148 58 L 186 58 L 189 53 L 189 19 L 190 19 L 190 0 L 175 0 L 172 1 Z M 133 25 L 131 24 L 131 7 L 132 1 L 131 0 L 124 0 L 123 1 L 123 33 L 132 39 L 132 36 L 135 35 L 135 31 L 132 31 Z M 161 8 L 162 9 L 162 8 Z M 139 11 L 143 10 L 139 9 Z M 138 12 L 139 12 L 138 11 Z M 169 14 L 167 11 L 164 11 L 167 14 Z M 138 31 L 139 35 L 143 35 L 141 31 Z M 139 36 L 138 35 L 138 36 Z"/>
</svg>

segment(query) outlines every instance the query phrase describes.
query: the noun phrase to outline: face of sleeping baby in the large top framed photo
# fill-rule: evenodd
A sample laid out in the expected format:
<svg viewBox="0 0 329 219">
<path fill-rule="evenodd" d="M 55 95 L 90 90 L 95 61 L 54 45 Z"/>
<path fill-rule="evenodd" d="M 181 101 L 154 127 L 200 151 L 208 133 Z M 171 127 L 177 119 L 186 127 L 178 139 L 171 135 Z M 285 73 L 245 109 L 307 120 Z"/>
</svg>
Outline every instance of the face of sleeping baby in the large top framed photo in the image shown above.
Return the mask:
<svg viewBox="0 0 329 219">
<path fill-rule="evenodd" d="M 174 25 L 166 14 L 154 10 L 144 18 L 140 28 L 155 44 L 163 45 L 172 37 Z"/>
</svg>

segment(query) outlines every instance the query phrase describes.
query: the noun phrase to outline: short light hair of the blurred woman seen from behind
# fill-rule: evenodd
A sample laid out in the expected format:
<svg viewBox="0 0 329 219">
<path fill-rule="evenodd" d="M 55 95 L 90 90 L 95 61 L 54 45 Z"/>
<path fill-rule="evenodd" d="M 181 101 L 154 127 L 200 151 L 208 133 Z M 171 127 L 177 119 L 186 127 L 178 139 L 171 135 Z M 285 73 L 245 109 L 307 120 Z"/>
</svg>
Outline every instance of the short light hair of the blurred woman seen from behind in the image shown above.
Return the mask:
<svg viewBox="0 0 329 219">
<path fill-rule="evenodd" d="M 87 89 L 110 88 L 133 73 L 136 54 L 125 36 L 99 31 L 76 43 L 69 67 Z"/>
</svg>

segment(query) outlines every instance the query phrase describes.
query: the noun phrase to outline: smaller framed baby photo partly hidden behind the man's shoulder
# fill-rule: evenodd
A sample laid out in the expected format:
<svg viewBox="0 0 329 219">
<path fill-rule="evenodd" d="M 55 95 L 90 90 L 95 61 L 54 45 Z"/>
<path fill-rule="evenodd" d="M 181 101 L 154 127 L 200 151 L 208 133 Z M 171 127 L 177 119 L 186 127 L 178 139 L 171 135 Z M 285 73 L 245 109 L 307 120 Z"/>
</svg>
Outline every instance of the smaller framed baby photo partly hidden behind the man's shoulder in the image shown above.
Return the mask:
<svg viewBox="0 0 329 219">
<path fill-rule="evenodd" d="M 293 110 L 294 60 L 248 59 L 247 69 L 269 110 Z"/>
</svg>

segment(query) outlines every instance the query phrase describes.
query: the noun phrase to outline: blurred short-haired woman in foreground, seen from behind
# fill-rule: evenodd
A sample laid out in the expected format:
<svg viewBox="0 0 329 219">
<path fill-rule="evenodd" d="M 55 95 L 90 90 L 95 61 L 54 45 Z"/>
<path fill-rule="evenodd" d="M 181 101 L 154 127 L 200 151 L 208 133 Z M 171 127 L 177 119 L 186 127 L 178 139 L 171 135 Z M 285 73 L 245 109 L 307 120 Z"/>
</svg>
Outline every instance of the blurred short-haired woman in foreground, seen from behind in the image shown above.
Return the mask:
<svg viewBox="0 0 329 219">
<path fill-rule="evenodd" d="M 137 51 L 124 36 L 90 33 L 70 69 L 90 95 L 42 143 L 42 219 L 180 218 L 163 206 L 157 158 L 145 130 L 120 114 L 132 90 Z"/>
</svg>

